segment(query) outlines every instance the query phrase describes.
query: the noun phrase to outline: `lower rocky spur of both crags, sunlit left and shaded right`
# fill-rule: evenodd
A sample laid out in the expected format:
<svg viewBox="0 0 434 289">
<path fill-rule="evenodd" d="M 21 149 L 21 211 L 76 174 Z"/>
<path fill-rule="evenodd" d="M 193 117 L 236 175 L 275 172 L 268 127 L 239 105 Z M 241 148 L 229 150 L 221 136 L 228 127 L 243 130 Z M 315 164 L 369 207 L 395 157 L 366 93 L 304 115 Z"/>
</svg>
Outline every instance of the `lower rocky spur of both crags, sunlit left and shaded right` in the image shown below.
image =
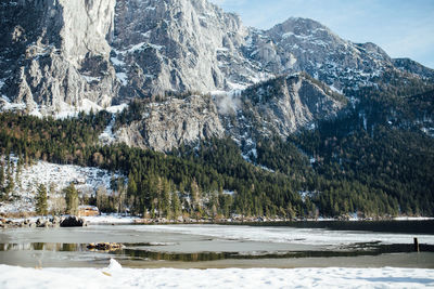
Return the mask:
<svg viewBox="0 0 434 289">
<path fill-rule="evenodd" d="M 192 95 L 149 103 L 141 109 L 140 120 L 116 131 L 115 141 L 168 152 L 181 144 L 228 135 L 251 150 L 259 135 L 285 137 L 301 128 L 315 127 L 321 119 L 336 117 L 345 105 L 343 95 L 297 74 L 232 95 Z"/>
</svg>

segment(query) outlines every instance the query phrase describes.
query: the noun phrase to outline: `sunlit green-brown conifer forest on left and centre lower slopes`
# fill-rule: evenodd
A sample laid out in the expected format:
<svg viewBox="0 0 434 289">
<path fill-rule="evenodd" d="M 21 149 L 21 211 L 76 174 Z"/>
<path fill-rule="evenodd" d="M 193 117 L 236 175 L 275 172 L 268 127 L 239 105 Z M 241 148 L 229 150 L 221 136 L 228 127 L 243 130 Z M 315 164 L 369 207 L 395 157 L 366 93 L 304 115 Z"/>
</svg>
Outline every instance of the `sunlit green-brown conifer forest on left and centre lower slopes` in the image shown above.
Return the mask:
<svg viewBox="0 0 434 289">
<path fill-rule="evenodd" d="M 291 180 L 245 162 L 231 140 L 204 143 L 197 156 L 182 156 L 182 148 L 164 155 L 124 144 L 99 146 L 98 135 L 110 117 L 103 113 L 80 117 L 53 120 L 1 114 L 1 154 L 14 153 L 25 166 L 43 159 L 119 171 L 128 175 L 123 202 L 132 212 L 152 216 L 174 216 L 182 209 L 195 218 L 305 213 Z"/>
</svg>

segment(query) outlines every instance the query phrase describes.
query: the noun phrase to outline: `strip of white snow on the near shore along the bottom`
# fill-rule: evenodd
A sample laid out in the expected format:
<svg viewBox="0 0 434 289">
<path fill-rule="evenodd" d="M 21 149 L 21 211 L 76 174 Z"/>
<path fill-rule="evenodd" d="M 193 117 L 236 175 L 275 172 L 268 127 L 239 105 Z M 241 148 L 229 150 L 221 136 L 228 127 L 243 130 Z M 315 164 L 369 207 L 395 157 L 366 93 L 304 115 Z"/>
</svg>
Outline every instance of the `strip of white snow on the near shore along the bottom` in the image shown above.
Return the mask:
<svg viewBox="0 0 434 289">
<path fill-rule="evenodd" d="M 136 270 L 111 260 L 106 268 L 23 268 L 0 265 L 0 288 L 426 288 L 434 270 L 225 268 Z"/>
</svg>

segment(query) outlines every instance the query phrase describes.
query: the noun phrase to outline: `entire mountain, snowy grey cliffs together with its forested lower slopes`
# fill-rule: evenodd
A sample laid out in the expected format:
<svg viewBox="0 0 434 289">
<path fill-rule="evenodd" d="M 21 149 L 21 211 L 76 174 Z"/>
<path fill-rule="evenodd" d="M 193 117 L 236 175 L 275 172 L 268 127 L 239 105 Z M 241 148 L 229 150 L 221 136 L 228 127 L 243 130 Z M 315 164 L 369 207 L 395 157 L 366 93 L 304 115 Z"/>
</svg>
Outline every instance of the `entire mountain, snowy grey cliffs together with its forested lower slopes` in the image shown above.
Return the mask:
<svg viewBox="0 0 434 289">
<path fill-rule="evenodd" d="M 4 155 L 118 171 L 143 213 L 189 184 L 208 215 L 434 212 L 434 70 L 411 60 L 311 19 L 244 27 L 207 0 L 2 0 L 0 24 Z M 31 180 L 111 175 L 38 162 L 23 192 L 1 167 L 0 197 L 30 209 Z"/>
</svg>

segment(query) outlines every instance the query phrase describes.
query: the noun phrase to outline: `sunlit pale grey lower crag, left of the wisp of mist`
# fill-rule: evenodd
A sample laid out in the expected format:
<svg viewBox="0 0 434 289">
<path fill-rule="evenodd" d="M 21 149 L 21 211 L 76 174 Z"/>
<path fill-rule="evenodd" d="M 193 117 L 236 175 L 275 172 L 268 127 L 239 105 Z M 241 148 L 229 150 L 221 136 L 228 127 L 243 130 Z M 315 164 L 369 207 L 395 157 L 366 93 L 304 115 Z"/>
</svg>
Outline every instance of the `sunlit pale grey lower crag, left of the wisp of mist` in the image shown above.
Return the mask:
<svg viewBox="0 0 434 289">
<path fill-rule="evenodd" d="M 145 105 L 140 120 L 117 130 L 116 141 L 167 152 L 181 144 L 224 135 L 225 130 L 212 98 L 191 95 L 183 100 L 169 98 Z"/>
</svg>

